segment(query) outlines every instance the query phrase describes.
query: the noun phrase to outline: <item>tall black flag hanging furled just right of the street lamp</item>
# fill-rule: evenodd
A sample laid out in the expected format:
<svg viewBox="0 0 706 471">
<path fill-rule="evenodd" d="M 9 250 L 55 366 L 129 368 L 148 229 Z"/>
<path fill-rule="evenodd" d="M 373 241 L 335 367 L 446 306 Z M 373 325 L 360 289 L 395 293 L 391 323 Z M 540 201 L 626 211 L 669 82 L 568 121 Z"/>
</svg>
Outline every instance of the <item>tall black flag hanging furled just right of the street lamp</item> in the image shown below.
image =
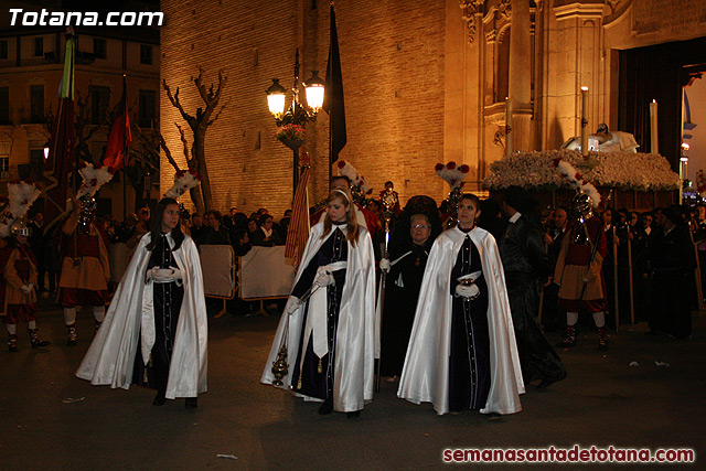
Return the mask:
<svg viewBox="0 0 706 471">
<path fill-rule="evenodd" d="M 341 75 L 341 55 L 339 53 L 339 34 L 335 30 L 335 13 L 331 4 L 331 44 L 329 45 L 329 63 L 327 65 L 327 84 L 323 96 L 323 109 L 329 114 L 329 161 L 335 162 L 339 152 L 345 147 L 345 108 L 343 106 L 343 77 Z"/>
</svg>

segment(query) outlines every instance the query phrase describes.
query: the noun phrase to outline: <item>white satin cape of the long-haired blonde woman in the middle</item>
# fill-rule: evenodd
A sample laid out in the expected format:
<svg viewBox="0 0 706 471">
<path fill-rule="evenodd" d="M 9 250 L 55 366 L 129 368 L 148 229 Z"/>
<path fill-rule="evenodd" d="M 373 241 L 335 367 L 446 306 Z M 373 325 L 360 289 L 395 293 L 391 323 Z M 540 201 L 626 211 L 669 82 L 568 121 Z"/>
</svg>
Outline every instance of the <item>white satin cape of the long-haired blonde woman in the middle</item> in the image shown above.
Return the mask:
<svg viewBox="0 0 706 471">
<path fill-rule="evenodd" d="M 375 258 L 370 234 L 364 227 L 359 226 L 359 228 L 360 235 L 356 245 L 347 243 L 345 285 L 341 295 L 339 327 L 336 330 L 333 408 L 341 413 L 361 410 L 365 402 L 373 399 Z M 346 232 L 345 227 L 341 227 L 341 229 L 343 233 Z M 323 243 L 331 237 L 333 231 L 323 239 L 321 238 L 322 234 L 323 223 L 319 222 L 311 228 L 309 234 L 309 240 L 297 270 L 295 285 L 299 281 L 311 258 L 317 255 Z M 277 358 L 287 325 L 287 318 L 289 318 L 289 335 L 287 338 L 289 372 L 282 378 L 284 385 L 280 386 L 282 389 L 289 389 L 295 362 L 299 353 L 304 306 L 306 303 L 300 306 L 291 315 L 282 314 L 263 377 L 260 378 L 263 383 L 271 384 L 275 381 L 271 367 Z M 306 347 L 307 345 L 303 345 L 303 349 Z M 307 400 L 321 400 L 309 396 L 303 397 Z"/>
</svg>

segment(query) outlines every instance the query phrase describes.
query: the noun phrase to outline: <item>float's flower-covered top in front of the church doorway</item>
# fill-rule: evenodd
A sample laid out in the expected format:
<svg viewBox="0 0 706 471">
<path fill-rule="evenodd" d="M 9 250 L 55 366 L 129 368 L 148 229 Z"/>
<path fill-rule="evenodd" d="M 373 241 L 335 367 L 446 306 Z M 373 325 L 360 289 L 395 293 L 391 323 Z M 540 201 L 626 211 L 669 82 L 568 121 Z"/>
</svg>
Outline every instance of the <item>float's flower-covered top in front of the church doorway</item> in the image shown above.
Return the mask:
<svg viewBox="0 0 706 471">
<path fill-rule="evenodd" d="M 643 211 L 678 203 L 680 176 L 666 159 L 631 151 L 589 151 L 587 156 L 569 149 L 515 152 L 490 164 L 483 185 L 498 200 L 504 189 L 517 185 L 528 190 L 541 207 L 566 206 L 576 191 L 557 172 L 560 161 L 577 170 L 578 180 L 593 183 L 601 201 L 611 207 Z"/>
</svg>

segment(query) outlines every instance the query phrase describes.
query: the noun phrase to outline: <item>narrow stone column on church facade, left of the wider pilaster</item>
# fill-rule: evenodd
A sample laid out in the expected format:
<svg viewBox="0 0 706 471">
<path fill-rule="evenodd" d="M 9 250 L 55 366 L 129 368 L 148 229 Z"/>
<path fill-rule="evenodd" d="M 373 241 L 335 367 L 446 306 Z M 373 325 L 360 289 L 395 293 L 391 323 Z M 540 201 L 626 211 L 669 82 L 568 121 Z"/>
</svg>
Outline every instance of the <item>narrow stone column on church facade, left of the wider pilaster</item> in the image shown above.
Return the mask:
<svg viewBox="0 0 706 471">
<path fill-rule="evenodd" d="M 513 108 L 513 151 L 534 149 L 532 60 L 530 0 L 512 0 L 507 88 Z"/>
</svg>

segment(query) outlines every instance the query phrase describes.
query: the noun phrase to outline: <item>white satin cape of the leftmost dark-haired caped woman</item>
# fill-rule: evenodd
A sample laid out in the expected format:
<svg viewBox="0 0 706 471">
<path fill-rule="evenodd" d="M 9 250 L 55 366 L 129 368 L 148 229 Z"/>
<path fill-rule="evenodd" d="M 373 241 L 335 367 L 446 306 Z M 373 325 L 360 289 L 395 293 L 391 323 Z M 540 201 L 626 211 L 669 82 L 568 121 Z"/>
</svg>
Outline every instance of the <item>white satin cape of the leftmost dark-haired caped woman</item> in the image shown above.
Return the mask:
<svg viewBox="0 0 706 471">
<path fill-rule="evenodd" d="M 150 234 L 146 234 L 122 276 L 103 325 L 98 330 L 76 376 L 94 385 L 110 385 L 128 389 L 132 383 L 135 356 L 147 363 L 154 343 L 152 281 L 146 281 L 147 250 Z M 174 246 L 171 234 L 170 246 Z M 203 291 L 201 263 L 196 245 L 188 235 L 179 250 L 172 251 L 182 272 L 184 298 L 181 303 L 169 367 L 165 396 L 196 397 L 206 392 L 208 325 Z M 138 338 L 142 352 L 137 351 Z"/>
</svg>

